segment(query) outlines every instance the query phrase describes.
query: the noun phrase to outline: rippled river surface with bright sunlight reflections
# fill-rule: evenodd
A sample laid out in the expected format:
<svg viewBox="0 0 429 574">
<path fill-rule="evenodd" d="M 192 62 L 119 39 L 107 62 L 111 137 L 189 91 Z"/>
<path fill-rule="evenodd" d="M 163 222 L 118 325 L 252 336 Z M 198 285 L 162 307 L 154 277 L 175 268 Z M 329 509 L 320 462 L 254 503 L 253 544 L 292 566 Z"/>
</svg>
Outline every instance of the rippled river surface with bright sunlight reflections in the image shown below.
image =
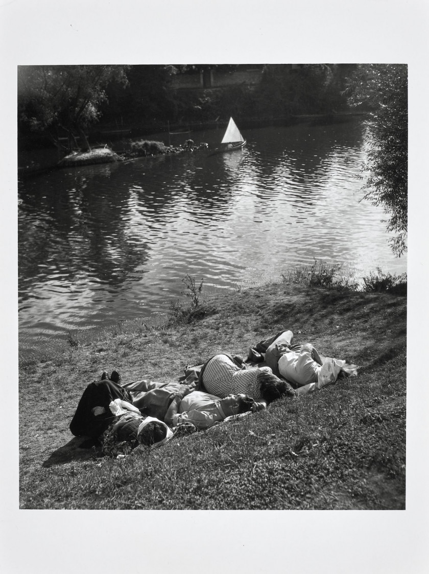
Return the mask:
<svg viewBox="0 0 429 574">
<path fill-rule="evenodd" d="M 56 350 L 69 333 L 164 317 L 187 273 L 204 277 L 209 295 L 278 279 L 314 258 L 357 277 L 377 266 L 406 271 L 382 210 L 359 203 L 360 122 L 244 131 L 242 152 L 66 168 L 20 182 L 21 356 Z M 191 135 L 211 146 L 223 130 Z"/>
</svg>

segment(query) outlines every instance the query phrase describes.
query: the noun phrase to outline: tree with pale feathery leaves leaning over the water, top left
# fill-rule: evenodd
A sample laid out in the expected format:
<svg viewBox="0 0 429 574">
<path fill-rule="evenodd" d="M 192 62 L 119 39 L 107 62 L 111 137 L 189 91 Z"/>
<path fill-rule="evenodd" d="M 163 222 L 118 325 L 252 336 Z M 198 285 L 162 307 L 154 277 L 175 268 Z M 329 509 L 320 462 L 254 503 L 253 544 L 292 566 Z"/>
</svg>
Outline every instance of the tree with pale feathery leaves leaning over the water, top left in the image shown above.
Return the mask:
<svg viewBox="0 0 429 574">
<path fill-rule="evenodd" d="M 89 150 L 85 129 L 98 120 L 106 86 L 126 86 L 124 66 L 61 65 L 18 67 L 18 120 L 32 131 L 48 135 L 61 148 L 59 129 L 70 142 L 80 137 Z"/>
</svg>

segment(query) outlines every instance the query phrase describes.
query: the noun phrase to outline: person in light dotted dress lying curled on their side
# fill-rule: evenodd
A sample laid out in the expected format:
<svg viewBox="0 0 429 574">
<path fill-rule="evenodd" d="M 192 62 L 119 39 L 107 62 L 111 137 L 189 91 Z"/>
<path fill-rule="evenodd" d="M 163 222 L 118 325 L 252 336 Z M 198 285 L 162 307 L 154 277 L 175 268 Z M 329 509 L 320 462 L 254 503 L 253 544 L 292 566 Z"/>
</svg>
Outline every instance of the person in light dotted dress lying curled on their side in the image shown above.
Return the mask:
<svg viewBox="0 0 429 574">
<path fill-rule="evenodd" d="M 283 395 L 294 397 L 296 394 L 287 381 L 272 373 L 270 367 L 243 369 L 226 354 L 215 355 L 204 363 L 199 382 L 199 390 L 217 397 L 246 394 L 265 405 Z"/>
</svg>

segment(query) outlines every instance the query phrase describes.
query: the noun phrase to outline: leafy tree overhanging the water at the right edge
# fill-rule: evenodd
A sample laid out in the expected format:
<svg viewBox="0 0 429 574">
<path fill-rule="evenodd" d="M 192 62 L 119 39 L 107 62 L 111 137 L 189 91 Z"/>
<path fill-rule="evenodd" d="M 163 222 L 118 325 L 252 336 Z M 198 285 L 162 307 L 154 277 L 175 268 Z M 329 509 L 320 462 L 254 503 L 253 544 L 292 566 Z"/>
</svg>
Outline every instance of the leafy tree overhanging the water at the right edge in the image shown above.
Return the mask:
<svg viewBox="0 0 429 574">
<path fill-rule="evenodd" d="M 390 219 L 393 252 L 407 251 L 408 75 L 405 64 L 360 64 L 347 87 L 352 106 L 368 110 L 368 173 L 364 198 L 382 205 Z"/>
</svg>

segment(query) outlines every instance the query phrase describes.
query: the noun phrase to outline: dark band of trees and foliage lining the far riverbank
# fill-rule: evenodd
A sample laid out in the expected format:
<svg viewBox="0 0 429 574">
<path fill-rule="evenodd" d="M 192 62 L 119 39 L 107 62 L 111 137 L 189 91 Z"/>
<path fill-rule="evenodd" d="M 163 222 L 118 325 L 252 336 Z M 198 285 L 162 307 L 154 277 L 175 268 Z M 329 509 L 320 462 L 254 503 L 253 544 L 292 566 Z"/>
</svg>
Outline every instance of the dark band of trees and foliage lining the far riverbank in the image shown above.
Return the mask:
<svg viewBox="0 0 429 574">
<path fill-rule="evenodd" d="M 260 68 L 261 83 L 176 90 L 177 75 L 228 74 Z M 20 127 L 44 133 L 57 146 L 101 117 L 105 124 L 164 129 L 167 122 L 270 121 L 290 114 L 329 113 L 345 107 L 343 64 L 180 64 L 123 66 L 21 66 L 18 69 Z M 347 68 L 348 69 L 348 68 Z M 198 86 L 198 83 L 196 84 Z M 125 88 L 125 89 L 124 89 Z"/>
</svg>

